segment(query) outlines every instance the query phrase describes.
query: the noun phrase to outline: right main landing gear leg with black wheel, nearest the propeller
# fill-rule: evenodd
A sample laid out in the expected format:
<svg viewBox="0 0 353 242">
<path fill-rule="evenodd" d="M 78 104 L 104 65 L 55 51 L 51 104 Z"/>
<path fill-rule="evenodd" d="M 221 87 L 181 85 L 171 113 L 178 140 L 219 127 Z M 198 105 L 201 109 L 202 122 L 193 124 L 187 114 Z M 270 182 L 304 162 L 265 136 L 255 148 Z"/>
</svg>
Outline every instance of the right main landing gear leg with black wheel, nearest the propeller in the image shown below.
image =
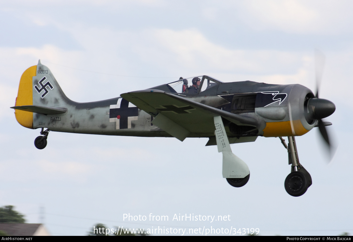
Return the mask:
<svg viewBox="0 0 353 242">
<path fill-rule="evenodd" d="M 299 163 L 297 145 L 295 144 L 294 136 L 288 137 L 288 146 L 282 137 L 279 138 L 288 151 L 288 164 L 292 164 L 291 173 L 285 180 L 286 192 L 291 196 L 301 196 L 306 192 L 308 187 L 311 186 L 311 176 Z"/>
</svg>

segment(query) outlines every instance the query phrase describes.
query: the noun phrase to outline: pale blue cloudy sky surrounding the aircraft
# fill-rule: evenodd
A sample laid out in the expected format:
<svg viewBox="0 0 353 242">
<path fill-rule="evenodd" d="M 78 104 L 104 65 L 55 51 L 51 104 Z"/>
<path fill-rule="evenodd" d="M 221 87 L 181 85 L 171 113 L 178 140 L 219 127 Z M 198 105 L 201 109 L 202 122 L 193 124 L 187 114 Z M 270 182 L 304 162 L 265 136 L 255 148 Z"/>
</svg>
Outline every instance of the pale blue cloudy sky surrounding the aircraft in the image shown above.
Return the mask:
<svg viewBox="0 0 353 242">
<path fill-rule="evenodd" d="M 211 226 L 236 228 L 236 236 L 243 228 L 353 234 L 352 8 L 345 0 L 0 2 L 0 206 L 15 206 L 27 223 L 44 222 L 52 235 L 86 235 L 96 223 L 178 230 L 164 235 L 191 229 L 205 236 Z M 315 49 L 326 56 L 320 97 L 336 105 L 324 120 L 333 123 L 327 129 L 336 152 L 329 162 L 317 128 L 296 138 L 313 180 L 300 197 L 283 186 L 290 166 L 278 138 L 231 145 L 251 173 L 235 188 L 207 138 L 50 132 L 38 150 L 40 131 L 20 126 L 10 109 L 22 73 L 38 59 L 68 98 L 91 102 L 198 75 L 301 84 L 315 93 Z M 129 213 L 146 220 L 124 220 Z M 149 221 L 150 214 L 168 221 Z M 175 214 L 227 220 L 179 221 Z"/>
</svg>

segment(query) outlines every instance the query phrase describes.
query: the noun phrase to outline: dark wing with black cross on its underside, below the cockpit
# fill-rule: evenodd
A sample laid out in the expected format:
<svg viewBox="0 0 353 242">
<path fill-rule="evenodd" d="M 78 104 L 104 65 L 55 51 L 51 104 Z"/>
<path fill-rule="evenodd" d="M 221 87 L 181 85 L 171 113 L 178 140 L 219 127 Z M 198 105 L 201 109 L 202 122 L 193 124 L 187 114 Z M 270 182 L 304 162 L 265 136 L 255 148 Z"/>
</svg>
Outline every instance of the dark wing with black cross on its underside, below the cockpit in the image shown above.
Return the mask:
<svg viewBox="0 0 353 242">
<path fill-rule="evenodd" d="M 121 97 L 155 116 L 151 121 L 154 125 L 181 141 L 190 134 L 214 136 L 214 116 L 222 116 L 236 125 L 259 126 L 256 119 L 192 101 L 185 95 L 147 89 L 123 93 Z"/>
</svg>

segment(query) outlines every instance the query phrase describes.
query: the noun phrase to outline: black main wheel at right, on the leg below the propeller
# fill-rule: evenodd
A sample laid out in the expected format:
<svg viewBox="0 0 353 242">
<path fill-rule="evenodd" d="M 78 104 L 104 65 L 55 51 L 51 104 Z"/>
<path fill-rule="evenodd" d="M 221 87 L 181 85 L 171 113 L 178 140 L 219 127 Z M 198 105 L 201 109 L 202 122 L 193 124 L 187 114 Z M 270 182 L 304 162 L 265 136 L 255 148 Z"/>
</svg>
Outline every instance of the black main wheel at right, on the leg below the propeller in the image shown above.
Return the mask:
<svg viewBox="0 0 353 242">
<path fill-rule="evenodd" d="M 306 176 L 299 171 L 293 171 L 285 180 L 286 192 L 291 196 L 303 195 L 308 187 L 309 184 Z"/>
</svg>

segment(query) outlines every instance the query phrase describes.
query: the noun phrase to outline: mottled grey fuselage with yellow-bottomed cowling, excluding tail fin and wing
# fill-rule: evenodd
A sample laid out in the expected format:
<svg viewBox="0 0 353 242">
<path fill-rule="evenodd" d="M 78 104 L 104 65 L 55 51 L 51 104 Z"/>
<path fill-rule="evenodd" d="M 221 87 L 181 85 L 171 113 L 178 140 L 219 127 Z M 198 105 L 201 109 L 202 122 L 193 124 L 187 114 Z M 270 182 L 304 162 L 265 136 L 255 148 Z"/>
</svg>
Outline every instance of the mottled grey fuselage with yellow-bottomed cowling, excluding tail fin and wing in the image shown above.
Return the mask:
<svg viewBox="0 0 353 242">
<path fill-rule="evenodd" d="M 163 87 L 154 89 L 163 90 Z M 239 126 L 226 123 L 229 137 L 303 135 L 315 126 L 314 121 L 309 123 L 304 116 L 305 98 L 313 97 L 313 94 L 298 84 L 271 85 L 252 81 L 220 83 L 197 95 L 183 96 L 211 107 L 253 117 L 262 123 L 260 129 L 250 133 L 245 132 L 253 127 L 240 127 L 242 129 L 239 130 Z M 60 102 L 58 106 L 67 108 L 65 114 L 34 114 L 33 128 L 45 127 L 52 131 L 86 134 L 170 137 L 151 123 L 153 115 L 121 97 L 89 103 L 77 103 L 62 97 Z M 210 127 L 193 130 L 190 137 L 213 135 L 214 128 Z"/>
</svg>

